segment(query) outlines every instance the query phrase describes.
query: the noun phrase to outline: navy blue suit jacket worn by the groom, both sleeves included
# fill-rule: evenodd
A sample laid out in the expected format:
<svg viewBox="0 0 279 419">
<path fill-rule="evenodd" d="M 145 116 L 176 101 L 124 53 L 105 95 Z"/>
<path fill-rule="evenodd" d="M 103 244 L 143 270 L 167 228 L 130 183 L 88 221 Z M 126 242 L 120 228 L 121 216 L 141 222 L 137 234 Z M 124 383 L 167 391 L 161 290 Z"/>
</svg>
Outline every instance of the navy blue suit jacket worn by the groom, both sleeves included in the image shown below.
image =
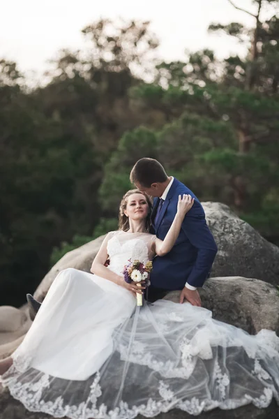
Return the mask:
<svg viewBox="0 0 279 419">
<path fill-rule="evenodd" d="M 153 233 L 159 239 L 165 239 L 177 212 L 179 195 L 183 193 L 193 196 L 195 203 L 183 220 L 179 237 L 172 250 L 165 256 L 156 256 L 153 260 L 150 280 L 151 286 L 155 288 L 181 290 L 186 281 L 195 287 L 203 286 L 217 253 L 216 242 L 206 224 L 202 205 L 194 193 L 175 178 L 156 224 L 154 219 L 159 199 L 154 199 L 151 214 Z"/>
</svg>

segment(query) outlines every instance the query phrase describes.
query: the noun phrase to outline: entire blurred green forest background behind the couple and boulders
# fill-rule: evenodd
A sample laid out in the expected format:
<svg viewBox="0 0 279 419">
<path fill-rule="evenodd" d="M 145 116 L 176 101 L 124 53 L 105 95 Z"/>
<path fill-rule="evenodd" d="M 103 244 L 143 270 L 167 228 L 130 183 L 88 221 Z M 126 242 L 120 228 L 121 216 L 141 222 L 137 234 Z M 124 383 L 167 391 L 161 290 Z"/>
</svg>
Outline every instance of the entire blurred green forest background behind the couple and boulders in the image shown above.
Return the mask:
<svg viewBox="0 0 279 419">
<path fill-rule="evenodd" d="M 246 57 L 186 51 L 157 63 L 152 83 L 139 78 L 158 46 L 149 22 L 93 22 L 89 50 L 62 50 L 33 91 L 0 60 L 0 304 L 22 304 L 63 254 L 117 228 L 144 156 L 279 243 L 279 19 L 262 21 L 275 1 L 255 3 L 252 29 L 209 27 Z"/>
</svg>

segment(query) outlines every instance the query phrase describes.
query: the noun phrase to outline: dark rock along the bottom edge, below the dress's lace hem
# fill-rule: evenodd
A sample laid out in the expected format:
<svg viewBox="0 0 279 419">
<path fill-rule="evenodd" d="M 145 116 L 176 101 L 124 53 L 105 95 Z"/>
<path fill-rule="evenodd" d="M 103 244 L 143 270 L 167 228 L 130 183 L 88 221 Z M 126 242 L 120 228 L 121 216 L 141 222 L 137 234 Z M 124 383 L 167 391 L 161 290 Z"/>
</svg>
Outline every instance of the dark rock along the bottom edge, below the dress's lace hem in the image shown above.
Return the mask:
<svg viewBox="0 0 279 419">
<path fill-rule="evenodd" d="M 64 417 L 65 418 L 65 417 Z M 213 409 L 203 412 L 199 419 L 279 419 L 278 404 L 273 399 L 266 409 L 257 409 L 252 404 L 239 407 L 233 410 Z M 35 413 L 27 411 L 24 406 L 10 396 L 8 390 L 0 390 L 0 419 L 54 419 L 46 413 Z M 146 419 L 144 416 L 137 416 L 137 419 Z M 173 409 L 167 413 L 160 413 L 156 419 L 193 419 L 193 415 L 179 409 Z"/>
</svg>

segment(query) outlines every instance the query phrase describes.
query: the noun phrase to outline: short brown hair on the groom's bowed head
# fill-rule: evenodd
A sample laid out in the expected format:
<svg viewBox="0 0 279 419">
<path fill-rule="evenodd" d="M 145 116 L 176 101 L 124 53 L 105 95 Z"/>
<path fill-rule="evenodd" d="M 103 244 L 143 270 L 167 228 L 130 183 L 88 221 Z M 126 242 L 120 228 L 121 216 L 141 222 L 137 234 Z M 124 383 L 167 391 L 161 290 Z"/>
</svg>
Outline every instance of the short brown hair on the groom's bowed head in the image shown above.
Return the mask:
<svg viewBox="0 0 279 419">
<path fill-rule="evenodd" d="M 139 183 L 145 188 L 149 188 L 153 183 L 165 182 L 167 180 L 167 173 L 165 169 L 155 159 L 144 157 L 135 163 L 130 172 L 130 182 L 133 184 Z"/>
</svg>

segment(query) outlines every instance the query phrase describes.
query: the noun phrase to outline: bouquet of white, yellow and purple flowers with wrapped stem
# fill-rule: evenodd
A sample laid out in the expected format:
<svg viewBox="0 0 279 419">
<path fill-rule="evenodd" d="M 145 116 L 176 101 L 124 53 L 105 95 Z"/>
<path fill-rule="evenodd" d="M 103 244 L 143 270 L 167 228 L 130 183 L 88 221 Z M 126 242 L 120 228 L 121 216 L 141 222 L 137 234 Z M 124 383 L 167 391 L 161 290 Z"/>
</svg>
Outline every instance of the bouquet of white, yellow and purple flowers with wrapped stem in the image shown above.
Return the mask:
<svg viewBox="0 0 279 419">
<path fill-rule="evenodd" d="M 124 279 L 128 284 L 134 281 L 137 282 L 137 286 L 140 286 L 141 281 L 145 281 L 146 286 L 150 285 L 149 277 L 152 270 L 152 262 L 144 265 L 140 260 L 134 260 L 133 262 L 129 259 L 127 265 L 124 266 L 123 274 Z M 137 293 L 137 305 L 142 306 L 142 294 Z"/>
</svg>

